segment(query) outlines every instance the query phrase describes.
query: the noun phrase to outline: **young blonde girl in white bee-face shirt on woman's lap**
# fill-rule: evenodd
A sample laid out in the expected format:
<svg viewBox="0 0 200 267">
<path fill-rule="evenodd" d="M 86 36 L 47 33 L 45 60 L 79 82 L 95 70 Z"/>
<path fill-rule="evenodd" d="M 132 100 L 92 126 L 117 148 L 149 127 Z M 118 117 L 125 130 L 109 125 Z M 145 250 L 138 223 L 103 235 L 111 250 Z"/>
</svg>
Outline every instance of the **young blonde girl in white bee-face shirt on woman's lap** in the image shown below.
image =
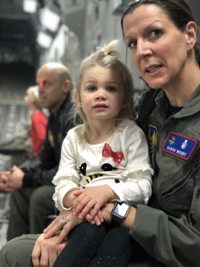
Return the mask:
<svg viewBox="0 0 200 267">
<path fill-rule="evenodd" d="M 101 224 L 100 208 L 108 201 L 147 204 L 151 196 L 153 170 L 146 138 L 133 121 L 132 77 L 114 46 L 80 67 L 75 106 L 84 124 L 68 131 L 63 142 L 53 199 L 59 210 L 73 207 L 81 219 L 89 213 L 91 223 L 73 228 L 53 266 L 127 266 L 133 251 L 129 231 Z"/>
</svg>

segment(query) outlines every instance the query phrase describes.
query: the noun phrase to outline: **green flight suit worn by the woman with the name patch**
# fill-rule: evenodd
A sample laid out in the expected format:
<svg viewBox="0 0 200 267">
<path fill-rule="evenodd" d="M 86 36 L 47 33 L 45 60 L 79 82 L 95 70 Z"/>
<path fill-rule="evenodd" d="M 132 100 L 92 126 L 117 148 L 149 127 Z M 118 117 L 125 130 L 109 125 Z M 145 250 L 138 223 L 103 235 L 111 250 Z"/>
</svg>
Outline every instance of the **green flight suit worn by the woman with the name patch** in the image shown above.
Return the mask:
<svg viewBox="0 0 200 267">
<path fill-rule="evenodd" d="M 147 90 L 137 103 L 138 125 L 143 129 L 149 142 L 155 177 L 153 195 L 148 206 L 138 205 L 135 224 L 130 230 L 130 235 L 151 257 L 148 259 L 147 253 L 144 252 L 144 256 L 138 255 L 139 260 L 135 257 L 129 266 L 200 265 L 199 103 L 200 86 L 193 92 L 183 109 L 169 118 L 168 99 L 161 89 Z M 165 146 L 169 139 L 172 147 L 177 147 L 176 140 L 169 138 L 171 132 L 177 139 L 183 137 L 188 140 L 188 146 L 192 140 L 196 144 L 190 145 L 191 151 L 189 150 L 187 157 L 184 158 L 174 150 L 166 151 Z M 25 239 L 22 236 L 6 244 L 0 253 L 0 265 L 24 266 L 25 257 L 26 262 L 30 263 L 26 266 L 32 266 L 32 239 L 32 236 Z M 16 248 L 19 250 L 20 244 L 23 245 L 21 258 L 17 256 L 14 260 L 13 251 Z"/>
</svg>

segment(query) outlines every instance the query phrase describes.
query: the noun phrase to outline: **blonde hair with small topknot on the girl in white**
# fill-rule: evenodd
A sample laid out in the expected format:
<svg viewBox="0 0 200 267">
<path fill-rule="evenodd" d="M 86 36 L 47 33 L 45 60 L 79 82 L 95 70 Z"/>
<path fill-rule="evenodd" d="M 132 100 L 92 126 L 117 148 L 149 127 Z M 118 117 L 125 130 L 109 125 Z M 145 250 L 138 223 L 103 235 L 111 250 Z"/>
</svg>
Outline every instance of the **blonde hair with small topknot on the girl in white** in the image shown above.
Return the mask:
<svg viewBox="0 0 200 267">
<path fill-rule="evenodd" d="M 79 70 L 76 89 L 74 89 L 74 123 L 76 123 L 77 115 L 79 114 L 83 123 L 85 124 L 84 137 L 88 141 L 90 136 L 90 126 L 83 109 L 78 106 L 78 97 L 80 96 L 81 84 L 83 76 L 88 69 L 92 68 L 105 68 L 105 69 L 118 69 L 123 75 L 124 85 L 124 104 L 118 114 L 118 118 L 113 121 L 113 131 L 120 121 L 127 118 L 130 120 L 136 119 L 137 115 L 133 103 L 133 80 L 128 67 L 120 60 L 120 54 L 116 50 L 117 41 L 112 41 L 108 46 L 104 46 L 96 53 L 91 54 L 88 58 L 84 59 Z M 112 132 L 113 132 L 112 131 Z"/>
</svg>

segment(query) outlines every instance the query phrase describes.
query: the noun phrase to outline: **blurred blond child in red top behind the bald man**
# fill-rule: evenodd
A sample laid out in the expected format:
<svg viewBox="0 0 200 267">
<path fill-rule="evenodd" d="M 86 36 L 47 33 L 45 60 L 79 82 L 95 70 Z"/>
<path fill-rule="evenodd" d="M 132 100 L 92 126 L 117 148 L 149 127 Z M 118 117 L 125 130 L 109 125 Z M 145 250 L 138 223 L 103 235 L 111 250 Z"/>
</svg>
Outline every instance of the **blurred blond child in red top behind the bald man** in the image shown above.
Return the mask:
<svg viewBox="0 0 200 267">
<path fill-rule="evenodd" d="M 32 142 L 31 154 L 39 156 L 43 140 L 46 136 L 47 117 L 41 110 L 38 86 L 30 86 L 24 97 L 24 105 L 32 111 L 30 140 Z"/>
</svg>

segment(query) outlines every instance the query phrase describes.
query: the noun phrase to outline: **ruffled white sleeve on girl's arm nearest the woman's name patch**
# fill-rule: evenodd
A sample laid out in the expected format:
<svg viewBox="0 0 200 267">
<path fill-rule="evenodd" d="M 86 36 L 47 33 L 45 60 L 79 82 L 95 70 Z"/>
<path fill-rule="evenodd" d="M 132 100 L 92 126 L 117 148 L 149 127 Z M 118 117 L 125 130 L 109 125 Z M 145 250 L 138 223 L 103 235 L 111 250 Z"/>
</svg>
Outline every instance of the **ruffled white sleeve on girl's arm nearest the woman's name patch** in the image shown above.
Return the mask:
<svg viewBox="0 0 200 267">
<path fill-rule="evenodd" d="M 127 165 L 122 172 L 125 182 L 107 183 L 121 201 L 130 205 L 148 203 L 152 193 L 152 175 L 146 137 L 135 122 L 125 128 L 122 144 L 127 150 Z M 113 199 L 114 200 L 114 199 Z"/>
</svg>

